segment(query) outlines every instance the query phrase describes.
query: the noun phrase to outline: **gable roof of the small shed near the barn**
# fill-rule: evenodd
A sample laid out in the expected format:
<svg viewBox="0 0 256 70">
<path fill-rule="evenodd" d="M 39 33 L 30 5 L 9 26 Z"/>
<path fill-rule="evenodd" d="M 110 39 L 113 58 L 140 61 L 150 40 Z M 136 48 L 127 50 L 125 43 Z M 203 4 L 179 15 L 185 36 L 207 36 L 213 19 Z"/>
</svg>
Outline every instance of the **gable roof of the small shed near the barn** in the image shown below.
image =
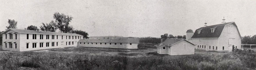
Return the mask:
<svg viewBox="0 0 256 70">
<path fill-rule="evenodd" d="M 171 45 L 174 45 L 174 44 L 176 44 L 176 43 L 178 43 L 178 42 L 180 42 L 180 41 L 187 41 L 186 39 L 166 39 L 164 42 L 162 42 L 159 46 L 157 46 L 158 48 L 161 48 L 161 47 L 163 47 L 163 46 L 171 46 Z M 189 41 L 187 41 L 187 42 L 189 42 Z M 189 43 L 191 43 L 191 42 L 189 42 Z M 195 44 L 193 44 L 193 43 L 191 43 L 192 45 L 195 45 Z"/>
</svg>

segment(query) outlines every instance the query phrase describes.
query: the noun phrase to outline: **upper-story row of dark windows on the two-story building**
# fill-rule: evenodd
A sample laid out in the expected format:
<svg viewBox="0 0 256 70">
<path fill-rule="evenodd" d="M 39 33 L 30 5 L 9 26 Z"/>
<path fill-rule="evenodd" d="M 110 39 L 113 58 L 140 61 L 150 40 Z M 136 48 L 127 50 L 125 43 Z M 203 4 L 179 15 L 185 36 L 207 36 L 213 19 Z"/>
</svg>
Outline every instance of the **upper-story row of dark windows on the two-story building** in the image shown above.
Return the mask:
<svg viewBox="0 0 256 70">
<path fill-rule="evenodd" d="M 15 34 L 15 39 L 17 39 L 17 34 Z M 44 39 L 43 38 L 44 35 L 40 34 L 40 39 Z M 46 39 L 49 39 L 50 35 L 46 35 Z M 82 36 L 75 36 L 75 39 L 82 39 Z M 6 34 L 6 39 L 7 39 L 7 34 Z M 10 34 L 10 39 L 12 39 L 12 34 Z M 29 34 L 27 34 L 27 39 L 29 39 Z M 33 34 L 32 39 L 37 39 L 37 34 Z M 52 39 L 55 39 L 55 35 L 52 35 Z M 58 39 L 58 35 L 56 35 L 56 39 Z M 63 39 L 63 36 L 61 36 L 61 39 Z M 66 36 L 67 39 L 67 36 Z M 69 39 L 71 39 L 71 36 L 69 36 Z M 74 36 L 72 36 L 72 39 L 74 39 Z"/>
</svg>

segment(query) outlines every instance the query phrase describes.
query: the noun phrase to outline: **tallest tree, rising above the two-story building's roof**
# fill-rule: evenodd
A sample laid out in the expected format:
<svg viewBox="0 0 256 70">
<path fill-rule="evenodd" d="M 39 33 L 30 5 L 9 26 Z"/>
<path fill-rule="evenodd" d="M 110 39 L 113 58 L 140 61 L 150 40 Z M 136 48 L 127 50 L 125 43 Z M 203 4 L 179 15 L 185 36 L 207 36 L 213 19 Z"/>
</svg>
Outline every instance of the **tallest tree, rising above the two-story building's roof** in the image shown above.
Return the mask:
<svg viewBox="0 0 256 70">
<path fill-rule="evenodd" d="M 71 22 L 72 18 L 69 15 L 65 15 L 63 13 L 59 14 L 59 12 L 54 13 L 53 18 L 55 19 L 55 22 L 57 23 L 57 27 L 61 32 L 64 33 L 70 33 L 74 29 L 72 26 L 69 26 L 69 22 Z"/>
</svg>

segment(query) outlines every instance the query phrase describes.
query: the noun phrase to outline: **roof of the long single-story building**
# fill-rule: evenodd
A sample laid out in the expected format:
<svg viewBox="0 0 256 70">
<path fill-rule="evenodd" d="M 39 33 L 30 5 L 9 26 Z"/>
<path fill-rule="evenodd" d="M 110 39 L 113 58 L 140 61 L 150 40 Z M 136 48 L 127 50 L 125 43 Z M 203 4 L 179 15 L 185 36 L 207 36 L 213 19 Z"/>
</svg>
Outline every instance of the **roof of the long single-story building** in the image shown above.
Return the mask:
<svg viewBox="0 0 256 70">
<path fill-rule="evenodd" d="M 89 40 L 89 41 L 88 41 Z M 112 41 L 111 41 L 112 40 Z M 138 38 L 122 38 L 122 39 L 80 39 L 78 42 L 93 43 L 139 43 Z"/>
</svg>

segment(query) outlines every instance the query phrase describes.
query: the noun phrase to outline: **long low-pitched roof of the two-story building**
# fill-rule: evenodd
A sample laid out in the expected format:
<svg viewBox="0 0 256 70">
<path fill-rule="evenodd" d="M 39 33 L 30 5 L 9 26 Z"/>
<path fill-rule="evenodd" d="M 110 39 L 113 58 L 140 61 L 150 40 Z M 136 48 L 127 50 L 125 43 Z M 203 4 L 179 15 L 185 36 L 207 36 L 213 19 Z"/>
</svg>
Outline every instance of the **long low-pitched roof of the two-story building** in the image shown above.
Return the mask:
<svg viewBox="0 0 256 70">
<path fill-rule="evenodd" d="M 4 32 L 2 32 L 1 34 L 4 34 L 6 33 L 7 31 L 15 31 L 15 32 L 18 32 L 20 34 L 50 34 L 50 35 L 64 35 L 64 36 L 82 36 L 80 34 L 68 34 L 68 33 L 63 33 L 63 32 L 46 32 L 46 31 L 34 31 L 34 30 L 22 30 L 22 29 L 8 29 Z"/>
</svg>

